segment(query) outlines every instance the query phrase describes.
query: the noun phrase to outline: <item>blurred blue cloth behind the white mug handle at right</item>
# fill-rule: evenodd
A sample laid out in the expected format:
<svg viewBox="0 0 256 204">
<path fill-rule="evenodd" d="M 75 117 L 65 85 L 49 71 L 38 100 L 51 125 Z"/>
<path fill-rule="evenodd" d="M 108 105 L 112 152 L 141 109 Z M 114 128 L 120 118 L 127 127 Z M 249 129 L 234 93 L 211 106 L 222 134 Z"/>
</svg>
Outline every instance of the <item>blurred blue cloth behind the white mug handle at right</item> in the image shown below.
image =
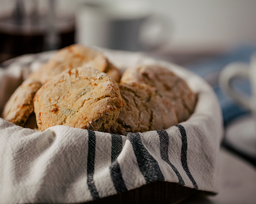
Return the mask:
<svg viewBox="0 0 256 204">
<path fill-rule="evenodd" d="M 249 111 L 237 104 L 232 98 L 230 98 L 220 89 L 218 84 L 218 74 L 229 63 L 238 61 L 250 63 L 250 57 L 255 52 L 256 47 L 252 45 L 242 45 L 236 47 L 236 49 L 232 50 L 228 54 L 208 57 L 186 66 L 187 69 L 190 69 L 197 75 L 205 78 L 214 88 L 222 108 L 224 125 L 228 124 L 228 122 L 239 116 L 248 114 Z M 237 80 L 234 82 L 234 86 L 238 90 L 241 90 L 246 94 L 250 94 L 251 90 L 248 81 Z"/>
</svg>

